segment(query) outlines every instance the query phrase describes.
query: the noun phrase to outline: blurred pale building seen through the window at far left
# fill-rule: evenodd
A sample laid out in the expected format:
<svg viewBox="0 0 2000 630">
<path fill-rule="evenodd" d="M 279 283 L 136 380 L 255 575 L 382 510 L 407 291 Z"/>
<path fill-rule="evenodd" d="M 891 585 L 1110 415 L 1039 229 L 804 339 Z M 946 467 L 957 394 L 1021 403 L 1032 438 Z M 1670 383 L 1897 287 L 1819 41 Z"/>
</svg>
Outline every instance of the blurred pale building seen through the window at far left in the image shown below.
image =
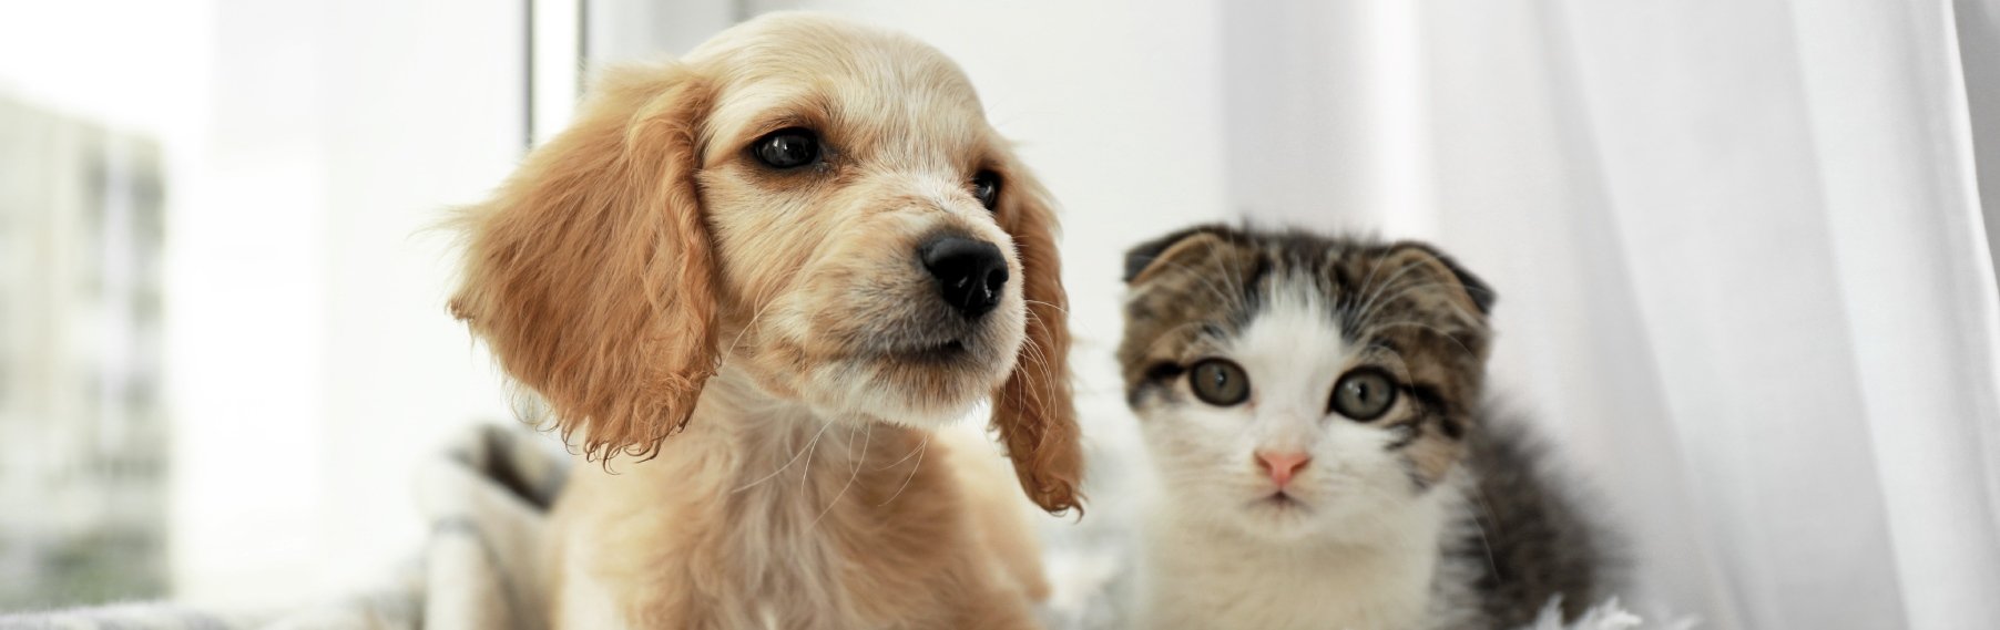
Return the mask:
<svg viewBox="0 0 2000 630">
<path fill-rule="evenodd" d="M 160 152 L 0 94 L 0 610 L 166 592 Z"/>
</svg>

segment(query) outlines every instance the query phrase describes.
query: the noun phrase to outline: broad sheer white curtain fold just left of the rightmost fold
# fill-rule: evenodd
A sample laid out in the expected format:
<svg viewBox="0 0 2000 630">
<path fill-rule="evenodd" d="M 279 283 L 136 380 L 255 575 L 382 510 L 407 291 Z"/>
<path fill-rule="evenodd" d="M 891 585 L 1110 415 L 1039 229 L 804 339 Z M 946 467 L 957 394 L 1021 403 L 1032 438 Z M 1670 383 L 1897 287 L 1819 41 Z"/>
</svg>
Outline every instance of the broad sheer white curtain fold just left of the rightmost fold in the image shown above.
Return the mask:
<svg viewBox="0 0 2000 630">
<path fill-rule="evenodd" d="M 1886 498 L 1792 6 L 1570 2 L 1596 142 L 1696 534 L 1746 628 L 1896 628 Z M 1886 158 L 1886 156 L 1884 156 Z M 1618 370 L 1622 366 L 1604 366 Z M 1646 500 L 1644 496 L 1630 496 Z"/>
</svg>

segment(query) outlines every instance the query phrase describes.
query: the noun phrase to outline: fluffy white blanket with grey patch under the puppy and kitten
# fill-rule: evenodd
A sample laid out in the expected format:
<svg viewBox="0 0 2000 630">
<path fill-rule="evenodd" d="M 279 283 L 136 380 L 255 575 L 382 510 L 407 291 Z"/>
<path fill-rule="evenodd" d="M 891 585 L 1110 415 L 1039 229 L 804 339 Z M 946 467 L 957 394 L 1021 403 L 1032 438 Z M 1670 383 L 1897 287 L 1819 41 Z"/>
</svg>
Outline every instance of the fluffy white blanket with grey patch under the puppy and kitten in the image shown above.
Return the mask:
<svg viewBox="0 0 2000 630">
<path fill-rule="evenodd" d="M 568 462 L 546 438 L 516 426 L 468 430 L 416 478 L 418 504 L 430 518 L 420 558 L 368 592 L 278 614 L 222 614 L 174 604 L 120 604 L 80 610 L 0 614 L 0 630 L 234 630 L 234 628 L 354 628 L 354 630 L 534 630 L 546 626 L 536 596 L 546 574 L 534 562 L 548 504 L 562 488 Z M 1098 498 L 1116 496 L 1096 494 Z M 1108 510 L 1106 510 L 1108 508 Z M 1118 506 L 1100 504 L 1082 524 L 1044 528 L 1056 596 L 1044 606 L 1050 628 L 1118 628 L 1126 522 L 1102 518 Z M 1692 624 L 1646 624 L 1616 600 L 1562 626 L 1554 608 L 1522 630 L 1684 630 Z"/>
</svg>

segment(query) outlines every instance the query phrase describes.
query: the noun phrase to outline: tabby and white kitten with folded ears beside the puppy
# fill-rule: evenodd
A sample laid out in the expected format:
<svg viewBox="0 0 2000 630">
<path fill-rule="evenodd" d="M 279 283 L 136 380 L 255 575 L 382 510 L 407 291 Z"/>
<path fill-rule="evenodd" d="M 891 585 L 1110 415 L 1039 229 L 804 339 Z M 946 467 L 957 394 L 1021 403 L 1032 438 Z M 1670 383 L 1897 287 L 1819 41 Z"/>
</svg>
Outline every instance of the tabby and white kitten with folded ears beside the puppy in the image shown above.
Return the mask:
<svg viewBox="0 0 2000 630">
<path fill-rule="evenodd" d="M 1494 294 L 1438 250 L 1200 226 L 1126 258 L 1160 478 L 1136 628 L 1514 628 L 1604 542 L 1482 400 Z"/>
</svg>

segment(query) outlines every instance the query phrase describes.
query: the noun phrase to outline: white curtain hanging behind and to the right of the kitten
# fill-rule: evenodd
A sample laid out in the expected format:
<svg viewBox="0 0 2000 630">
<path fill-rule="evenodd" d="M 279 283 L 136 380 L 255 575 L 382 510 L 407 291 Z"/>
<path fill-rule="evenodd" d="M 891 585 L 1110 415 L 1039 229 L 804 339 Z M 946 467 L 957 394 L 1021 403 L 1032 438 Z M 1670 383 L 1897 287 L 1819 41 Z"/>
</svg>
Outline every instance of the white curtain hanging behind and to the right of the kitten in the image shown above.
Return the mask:
<svg viewBox="0 0 2000 630">
<path fill-rule="evenodd" d="M 1990 14 L 1232 8 L 1224 46 L 1250 54 L 1226 70 L 1256 94 L 1226 112 L 1256 164 L 1232 200 L 1484 272 L 1498 386 L 1618 504 L 1648 602 L 1704 628 L 1990 628 L 2000 308 L 1958 42 L 1992 46 Z M 1268 58 L 1300 54 L 1330 62 Z M 1328 66 L 1346 84 L 1308 76 Z"/>
</svg>

